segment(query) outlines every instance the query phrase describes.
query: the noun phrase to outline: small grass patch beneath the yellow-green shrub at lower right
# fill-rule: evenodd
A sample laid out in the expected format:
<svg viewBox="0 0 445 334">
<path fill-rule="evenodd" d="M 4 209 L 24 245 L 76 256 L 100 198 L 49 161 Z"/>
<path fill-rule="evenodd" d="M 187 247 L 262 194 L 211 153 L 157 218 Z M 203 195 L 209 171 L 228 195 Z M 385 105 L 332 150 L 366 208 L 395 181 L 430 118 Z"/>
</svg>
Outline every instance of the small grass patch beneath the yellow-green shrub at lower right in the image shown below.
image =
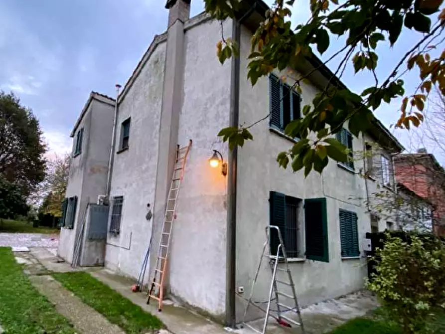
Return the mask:
<svg viewBox="0 0 445 334">
<path fill-rule="evenodd" d="M 445 333 L 445 315 L 438 313 L 432 318 L 428 327 L 430 331 L 425 333 Z M 357 318 L 348 321 L 346 324 L 336 328 L 330 334 L 402 334 L 399 326 L 388 321 L 383 308 L 379 308 L 374 312 L 371 318 Z"/>
</svg>

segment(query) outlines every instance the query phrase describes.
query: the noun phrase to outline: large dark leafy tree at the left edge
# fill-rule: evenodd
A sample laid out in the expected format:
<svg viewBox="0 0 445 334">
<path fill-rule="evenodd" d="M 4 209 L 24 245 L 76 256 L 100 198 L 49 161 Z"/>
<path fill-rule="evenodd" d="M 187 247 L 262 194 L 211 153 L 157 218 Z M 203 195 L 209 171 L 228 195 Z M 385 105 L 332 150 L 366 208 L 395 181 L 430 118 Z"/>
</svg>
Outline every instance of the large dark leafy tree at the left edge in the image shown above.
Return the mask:
<svg viewBox="0 0 445 334">
<path fill-rule="evenodd" d="M 0 176 L 23 196 L 45 176 L 46 146 L 36 117 L 13 93 L 0 91 Z"/>
</svg>

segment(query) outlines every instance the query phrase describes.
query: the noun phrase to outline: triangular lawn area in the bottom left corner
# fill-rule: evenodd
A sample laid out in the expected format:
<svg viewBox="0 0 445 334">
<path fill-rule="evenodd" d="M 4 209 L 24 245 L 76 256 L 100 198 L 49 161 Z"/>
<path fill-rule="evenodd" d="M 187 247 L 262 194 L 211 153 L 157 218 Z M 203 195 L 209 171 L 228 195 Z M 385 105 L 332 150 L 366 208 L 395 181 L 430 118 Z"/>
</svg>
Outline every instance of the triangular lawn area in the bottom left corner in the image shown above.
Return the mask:
<svg viewBox="0 0 445 334">
<path fill-rule="evenodd" d="M 68 320 L 31 285 L 6 247 L 0 247 L 0 325 L 7 334 L 75 333 Z"/>
</svg>

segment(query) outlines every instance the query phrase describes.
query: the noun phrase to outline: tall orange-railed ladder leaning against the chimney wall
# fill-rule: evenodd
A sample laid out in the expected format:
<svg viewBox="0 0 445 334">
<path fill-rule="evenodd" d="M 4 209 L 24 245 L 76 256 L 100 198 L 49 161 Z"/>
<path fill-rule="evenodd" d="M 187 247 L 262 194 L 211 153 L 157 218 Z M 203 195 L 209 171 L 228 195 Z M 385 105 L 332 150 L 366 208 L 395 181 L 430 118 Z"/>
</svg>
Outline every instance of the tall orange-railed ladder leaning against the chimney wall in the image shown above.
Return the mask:
<svg viewBox="0 0 445 334">
<path fill-rule="evenodd" d="M 147 304 L 149 304 L 150 299 L 158 301 L 157 309 L 159 311 L 162 310 L 164 278 L 168 268 L 168 251 L 170 247 L 173 221 L 176 219 L 176 203 L 179 196 L 182 178 L 184 177 L 185 162 L 187 161 L 187 155 L 191 144 L 192 141 L 190 139 L 187 146 L 179 147 L 178 145 L 176 162 L 174 164 L 173 175 L 171 177 L 170 190 L 168 191 L 167 202 L 165 204 L 165 215 L 162 222 L 156 265 L 154 266 L 151 287 L 147 293 Z"/>
</svg>

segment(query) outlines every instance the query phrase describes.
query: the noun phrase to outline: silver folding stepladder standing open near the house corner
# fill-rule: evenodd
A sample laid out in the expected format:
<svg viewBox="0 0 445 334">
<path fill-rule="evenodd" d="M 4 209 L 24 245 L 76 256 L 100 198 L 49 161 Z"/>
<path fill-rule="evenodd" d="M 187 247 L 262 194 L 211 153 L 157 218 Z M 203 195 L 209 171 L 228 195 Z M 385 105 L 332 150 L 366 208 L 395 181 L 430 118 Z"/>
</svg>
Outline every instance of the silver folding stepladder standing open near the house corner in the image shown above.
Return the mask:
<svg viewBox="0 0 445 334">
<path fill-rule="evenodd" d="M 272 231 L 277 233 L 278 239 L 280 242 L 277 247 L 277 254 L 271 253 L 270 239 L 271 239 Z M 270 266 L 270 269 L 272 272 L 272 280 L 271 280 L 271 286 L 270 286 L 270 290 L 269 290 L 269 296 L 268 296 L 268 300 L 267 300 L 266 310 L 264 310 L 261 306 L 259 306 L 254 301 L 252 301 L 252 298 L 253 298 L 253 295 L 255 292 L 255 285 L 256 285 L 257 279 L 258 279 L 258 274 L 260 273 L 261 265 L 265 258 L 269 261 L 269 266 Z M 280 267 L 279 263 L 281 265 L 284 265 L 284 268 Z M 279 272 L 279 271 L 285 273 L 284 277 L 286 277 L 286 279 L 282 279 L 282 278 L 277 279 L 277 272 Z M 284 287 L 287 287 L 288 289 L 290 288 L 292 294 L 284 293 L 283 292 Z M 274 299 L 273 299 L 273 294 L 275 295 Z M 281 302 L 282 299 L 291 301 L 292 305 L 286 305 L 286 304 L 282 303 Z M 275 305 L 276 305 L 276 310 L 274 310 L 273 312 L 275 312 L 277 314 L 276 316 L 271 314 L 271 311 L 272 311 L 271 304 L 272 304 L 273 300 L 275 301 Z M 266 313 L 266 317 L 264 318 L 263 328 L 261 330 L 256 329 L 255 327 L 253 327 L 250 324 L 245 322 L 247 312 L 249 311 L 249 307 L 251 305 L 255 306 L 256 308 L 258 308 L 261 311 Z M 298 321 L 295 321 L 294 319 L 287 317 L 285 314 L 288 314 L 288 313 L 296 314 Z M 295 291 L 294 280 L 292 279 L 292 274 L 289 269 L 288 256 L 286 254 L 286 248 L 285 248 L 285 245 L 283 242 L 283 237 L 281 235 L 280 228 L 275 225 L 266 227 L 266 242 L 264 243 L 263 252 L 261 253 L 260 263 L 258 265 L 258 269 L 255 274 L 255 279 L 252 283 L 250 297 L 248 299 L 248 303 L 244 310 L 243 325 L 246 327 L 249 327 L 251 330 L 255 331 L 256 333 L 265 334 L 267 325 L 268 325 L 268 321 L 269 321 L 269 316 L 271 316 L 275 320 L 277 320 L 277 322 L 282 326 L 292 327 L 291 324 L 293 324 L 293 325 L 299 326 L 301 328 L 302 334 L 306 333 L 304 331 L 303 321 L 301 319 L 301 313 L 300 313 L 300 309 L 298 306 L 297 293 Z"/>
</svg>

